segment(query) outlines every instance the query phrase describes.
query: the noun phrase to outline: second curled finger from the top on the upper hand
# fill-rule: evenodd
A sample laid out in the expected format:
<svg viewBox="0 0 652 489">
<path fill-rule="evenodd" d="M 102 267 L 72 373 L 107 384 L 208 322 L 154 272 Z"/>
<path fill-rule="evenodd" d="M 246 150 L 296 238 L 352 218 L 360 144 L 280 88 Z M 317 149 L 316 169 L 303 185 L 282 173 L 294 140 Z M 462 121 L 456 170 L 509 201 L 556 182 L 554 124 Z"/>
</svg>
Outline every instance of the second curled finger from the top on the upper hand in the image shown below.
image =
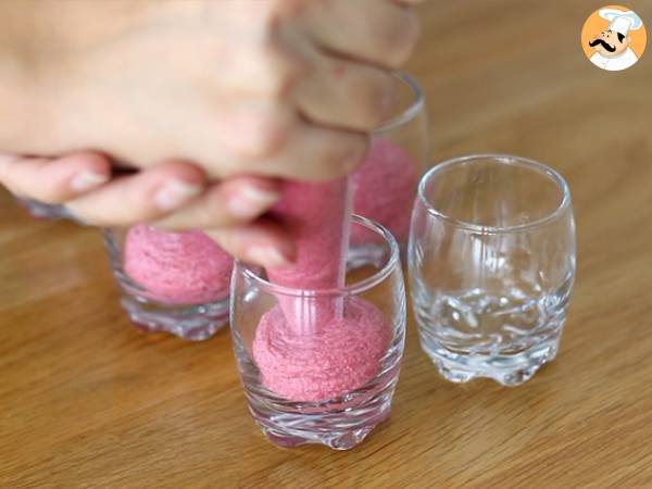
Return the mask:
<svg viewBox="0 0 652 489">
<path fill-rule="evenodd" d="M 296 98 L 313 122 L 353 130 L 373 130 L 394 106 L 397 85 L 391 73 L 317 53 L 316 70 L 297 84 Z"/>
</svg>

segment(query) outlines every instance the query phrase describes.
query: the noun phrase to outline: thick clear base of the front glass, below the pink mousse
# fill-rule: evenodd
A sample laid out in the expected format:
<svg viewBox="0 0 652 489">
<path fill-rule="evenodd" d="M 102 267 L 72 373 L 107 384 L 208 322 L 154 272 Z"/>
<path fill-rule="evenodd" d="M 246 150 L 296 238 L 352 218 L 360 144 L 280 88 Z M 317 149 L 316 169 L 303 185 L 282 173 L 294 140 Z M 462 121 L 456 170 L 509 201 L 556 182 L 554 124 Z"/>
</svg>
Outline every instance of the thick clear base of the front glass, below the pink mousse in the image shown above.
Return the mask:
<svg viewBox="0 0 652 489">
<path fill-rule="evenodd" d="M 394 385 L 396 381 L 352 409 L 310 413 L 279 411 L 249 394 L 249 411 L 267 439 L 278 447 L 312 443 L 325 444 L 334 450 L 350 450 L 389 417 Z"/>
</svg>

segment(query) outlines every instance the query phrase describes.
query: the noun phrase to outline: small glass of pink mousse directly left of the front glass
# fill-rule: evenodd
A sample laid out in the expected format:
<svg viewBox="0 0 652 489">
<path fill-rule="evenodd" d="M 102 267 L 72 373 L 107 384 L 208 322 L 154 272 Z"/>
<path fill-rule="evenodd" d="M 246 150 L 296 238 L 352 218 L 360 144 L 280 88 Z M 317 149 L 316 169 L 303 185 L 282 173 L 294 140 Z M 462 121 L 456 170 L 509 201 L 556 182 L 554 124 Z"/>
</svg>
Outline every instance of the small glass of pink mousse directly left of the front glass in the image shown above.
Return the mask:
<svg viewBox="0 0 652 489">
<path fill-rule="evenodd" d="M 121 303 L 134 325 L 202 341 L 228 323 L 233 259 L 199 231 L 106 228 Z"/>
</svg>

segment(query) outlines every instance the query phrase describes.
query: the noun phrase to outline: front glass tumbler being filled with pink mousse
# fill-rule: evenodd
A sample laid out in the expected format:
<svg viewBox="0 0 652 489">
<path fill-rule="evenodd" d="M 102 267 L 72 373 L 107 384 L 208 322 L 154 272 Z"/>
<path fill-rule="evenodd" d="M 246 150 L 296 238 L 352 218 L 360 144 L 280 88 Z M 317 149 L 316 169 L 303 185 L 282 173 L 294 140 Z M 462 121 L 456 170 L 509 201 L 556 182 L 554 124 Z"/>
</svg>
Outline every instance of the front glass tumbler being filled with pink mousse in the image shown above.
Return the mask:
<svg viewBox="0 0 652 489">
<path fill-rule="evenodd" d="M 275 444 L 348 450 L 390 414 L 405 337 L 399 248 L 371 221 L 354 216 L 352 226 L 384 254 L 348 266 L 335 290 L 280 287 L 236 262 L 234 351 L 249 411 Z"/>
</svg>

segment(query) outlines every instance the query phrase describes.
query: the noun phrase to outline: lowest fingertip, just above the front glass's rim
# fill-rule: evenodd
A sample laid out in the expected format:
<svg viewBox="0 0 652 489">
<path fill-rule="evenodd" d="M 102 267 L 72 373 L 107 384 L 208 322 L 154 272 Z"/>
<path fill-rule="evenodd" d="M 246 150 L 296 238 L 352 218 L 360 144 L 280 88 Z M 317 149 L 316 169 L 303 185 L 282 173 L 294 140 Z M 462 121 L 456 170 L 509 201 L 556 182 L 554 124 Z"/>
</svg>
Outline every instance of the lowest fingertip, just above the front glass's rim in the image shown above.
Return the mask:
<svg viewBox="0 0 652 489">
<path fill-rule="evenodd" d="M 297 251 L 283 228 L 269 221 L 206 231 L 234 256 L 256 265 L 275 268 L 290 265 Z"/>
</svg>

